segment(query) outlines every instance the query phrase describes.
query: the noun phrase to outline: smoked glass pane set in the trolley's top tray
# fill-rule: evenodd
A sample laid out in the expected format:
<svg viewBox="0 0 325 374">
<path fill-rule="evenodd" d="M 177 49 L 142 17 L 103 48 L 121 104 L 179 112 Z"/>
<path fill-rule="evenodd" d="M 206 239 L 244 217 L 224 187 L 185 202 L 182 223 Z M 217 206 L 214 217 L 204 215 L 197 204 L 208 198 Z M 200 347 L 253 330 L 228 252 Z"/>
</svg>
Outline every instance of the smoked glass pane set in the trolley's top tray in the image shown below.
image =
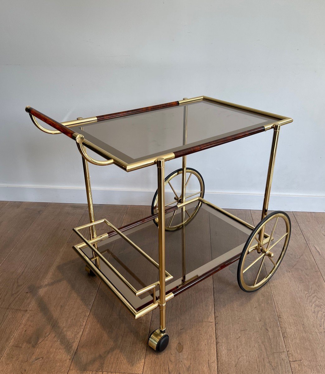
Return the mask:
<svg viewBox="0 0 325 374">
<path fill-rule="evenodd" d="M 203 144 L 229 132 L 238 133 L 251 126 L 275 122 L 274 118 L 207 101 L 188 104 L 187 108 L 186 138 L 183 137 L 185 106 L 90 123 L 83 125 L 83 134 L 90 141 L 92 138 L 89 135 L 103 142 L 100 146 L 109 153 L 113 152 L 105 144 L 136 160 L 187 148 L 190 144 L 197 145 L 197 142 Z"/>
</svg>

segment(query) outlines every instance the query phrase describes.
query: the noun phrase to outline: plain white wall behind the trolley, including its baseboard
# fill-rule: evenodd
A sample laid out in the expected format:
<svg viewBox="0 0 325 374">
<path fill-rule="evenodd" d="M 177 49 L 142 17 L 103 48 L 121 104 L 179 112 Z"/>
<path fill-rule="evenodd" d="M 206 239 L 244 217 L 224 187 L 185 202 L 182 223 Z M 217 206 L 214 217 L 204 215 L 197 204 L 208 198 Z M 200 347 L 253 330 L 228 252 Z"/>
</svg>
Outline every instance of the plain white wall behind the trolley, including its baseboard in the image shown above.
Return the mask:
<svg viewBox="0 0 325 374">
<path fill-rule="evenodd" d="M 292 117 L 270 208 L 324 211 L 324 14 L 322 0 L 2 1 L 0 199 L 86 201 L 74 142 L 26 105 L 64 121 L 207 95 Z M 207 198 L 261 208 L 271 138 L 189 156 Z M 95 202 L 151 203 L 154 166 L 90 171 Z"/>
</svg>

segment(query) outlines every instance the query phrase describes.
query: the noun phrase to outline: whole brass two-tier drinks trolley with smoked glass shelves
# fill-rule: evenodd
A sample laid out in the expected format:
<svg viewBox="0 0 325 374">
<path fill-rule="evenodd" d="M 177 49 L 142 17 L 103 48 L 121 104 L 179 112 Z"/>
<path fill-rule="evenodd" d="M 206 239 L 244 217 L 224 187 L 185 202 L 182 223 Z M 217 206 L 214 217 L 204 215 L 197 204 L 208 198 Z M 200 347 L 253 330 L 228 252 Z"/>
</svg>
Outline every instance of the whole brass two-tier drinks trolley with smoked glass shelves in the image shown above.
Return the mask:
<svg viewBox="0 0 325 374">
<path fill-rule="evenodd" d="M 285 212 L 267 210 L 279 132 L 291 118 L 207 96 L 62 123 L 29 106 L 25 110 L 41 131 L 76 142 L 90 223 L 73 229 L 82 240 L 73 248 L 87 272 L 105 283 L 136 319 L 159 308 L 160 326 L 148 340 L 156 351 L 168 345 L 165 311 L 173 297 L 237 260 L 237 280 L 245 292 L 256 291 L 275 273 L 291 223 Z M 186 156 L 271 129 L 261 221 L 254 227 L 204 199 L 203 177 L 187 167 Z M 94 159 L 87 148 L 104 160 Z M 178 157 L 182 167 L 165 177 L 165 163 Z M 127 172 L 156 165 L 151 215 L 120 228 L 106 217 L 95 220 L 89 163 L 115 164 Z"/>
</svg>

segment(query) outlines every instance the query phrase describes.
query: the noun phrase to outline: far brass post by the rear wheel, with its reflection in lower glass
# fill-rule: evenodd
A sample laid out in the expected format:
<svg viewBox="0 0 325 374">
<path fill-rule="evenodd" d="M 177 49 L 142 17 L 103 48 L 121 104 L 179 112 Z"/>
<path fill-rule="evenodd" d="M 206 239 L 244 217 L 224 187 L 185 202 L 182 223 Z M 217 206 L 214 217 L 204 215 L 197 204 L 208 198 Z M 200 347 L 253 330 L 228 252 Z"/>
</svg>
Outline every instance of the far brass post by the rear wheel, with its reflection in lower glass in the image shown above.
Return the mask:
<svg viewBox="0 0 325 374">
<path fill-rule="evenodd" d="M 187 98 L 183 98 L 186 100 Z M 183 116 L 183 145 L 187 142 L 187 105 L 184 106 Z M 182 192 L 181 202 L 185 202 L 186 184 L 186 156 L 182 157 Z M 185 206 L 182 207 L 182 222 L 185 222 Z M 185 226 L 182 226 L 182 281 L 185 282 L 186 275 L 186 252 L 185 252 Z"/>
</svg>

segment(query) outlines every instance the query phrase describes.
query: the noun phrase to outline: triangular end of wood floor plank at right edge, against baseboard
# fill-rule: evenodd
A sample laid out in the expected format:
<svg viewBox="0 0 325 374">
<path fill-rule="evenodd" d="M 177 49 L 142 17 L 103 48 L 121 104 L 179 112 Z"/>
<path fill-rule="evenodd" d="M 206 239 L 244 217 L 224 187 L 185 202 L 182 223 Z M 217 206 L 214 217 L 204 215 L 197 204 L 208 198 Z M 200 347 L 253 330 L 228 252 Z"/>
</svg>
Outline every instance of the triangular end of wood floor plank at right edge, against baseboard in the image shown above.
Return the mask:
<svg viewBox="0 0 325 374">
<path fill-rule="evenodd" d="M 325 281 L 325 213 L 294 212 L 294 216 Z"/>
</svg>

